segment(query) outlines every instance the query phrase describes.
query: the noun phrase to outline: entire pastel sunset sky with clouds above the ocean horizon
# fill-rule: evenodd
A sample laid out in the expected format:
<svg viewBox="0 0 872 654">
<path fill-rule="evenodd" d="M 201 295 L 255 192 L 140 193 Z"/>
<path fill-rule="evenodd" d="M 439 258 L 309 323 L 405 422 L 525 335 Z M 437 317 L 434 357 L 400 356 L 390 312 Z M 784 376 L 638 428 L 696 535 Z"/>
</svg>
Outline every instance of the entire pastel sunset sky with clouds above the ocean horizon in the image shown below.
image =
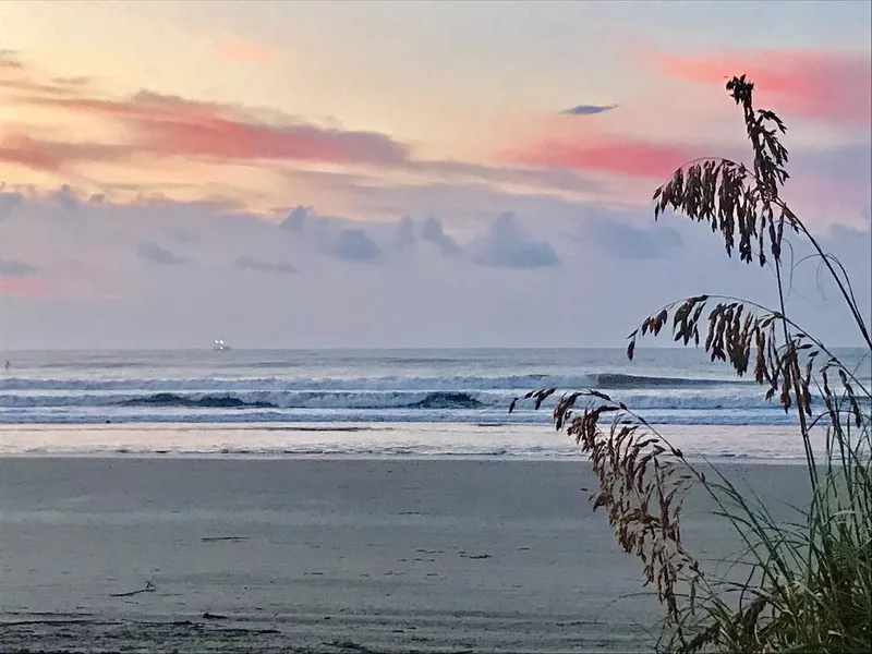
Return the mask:
<svg viewBox="0 0 872 654">
<path fill-rule="evenodd" d="M 654 220 L 788 125 L 869 312 L 872 3 L 0 2 L 0 349 L 611 347 L 773 272 Z M 804 254 L 796 243 L 794 261 Z M 859 342 L 813 261 L 796 322 Z"/>
</svg>

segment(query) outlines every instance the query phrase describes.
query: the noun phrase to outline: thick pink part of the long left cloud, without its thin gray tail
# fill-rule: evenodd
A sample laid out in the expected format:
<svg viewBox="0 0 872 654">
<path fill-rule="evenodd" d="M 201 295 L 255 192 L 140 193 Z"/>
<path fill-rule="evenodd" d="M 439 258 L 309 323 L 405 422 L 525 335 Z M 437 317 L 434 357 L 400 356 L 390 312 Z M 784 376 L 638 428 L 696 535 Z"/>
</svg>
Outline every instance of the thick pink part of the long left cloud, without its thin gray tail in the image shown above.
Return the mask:
<svg viewBox="0 0 872 654">
<path fill-rule="evenodd" d="M 2 61 L 7 59 L 0 51 Z M 128 134 L 118 144 L 63 144 L 27 136 L 0 142 L 0 160 L 41 170 L 60 170 L 74 159 L 138 154 L 377 166 L 401 166 L 409 160 L 404 145 L 375 132 L 329 130 L 284 118 L 265 121 L 241 106 L 147 90 L 109 99 L 96 95 L 84 77 L 44 80 L 26 66 L 0 68 L 0 93 L 12 102 L 105 119 Z"/>
</svg>

